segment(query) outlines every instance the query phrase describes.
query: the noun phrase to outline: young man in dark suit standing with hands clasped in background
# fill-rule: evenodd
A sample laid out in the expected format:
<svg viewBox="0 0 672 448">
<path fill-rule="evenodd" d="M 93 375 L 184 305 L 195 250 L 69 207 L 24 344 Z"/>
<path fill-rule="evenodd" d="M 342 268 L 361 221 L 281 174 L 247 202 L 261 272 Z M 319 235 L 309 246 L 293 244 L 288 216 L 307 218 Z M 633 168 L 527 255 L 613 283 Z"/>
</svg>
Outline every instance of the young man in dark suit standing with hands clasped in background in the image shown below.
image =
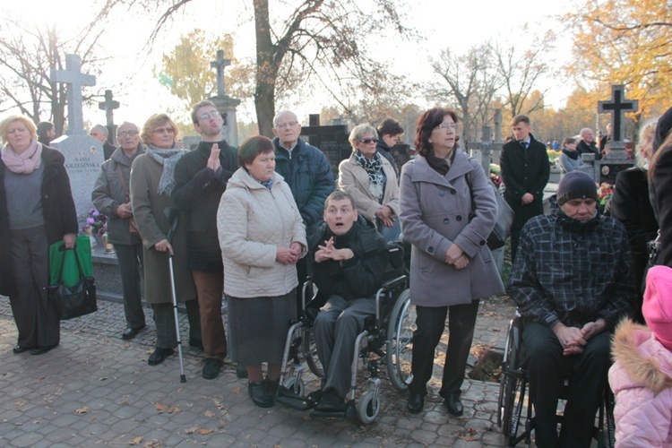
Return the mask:
<svg viewBox="0 0 672 448">
<path fill-rule="evenodd" d="M 550 175 L 546 146 L 530 134 L 530 117 L 514 116 L 515 140 L 504 144 L 500 165 L 504 178 L 504 199 L 515 216 L 511 226 L 511 259 L 515 259 L 521 229 L 530 218 L 544 212 L 544 188 Z"/>
</svg>

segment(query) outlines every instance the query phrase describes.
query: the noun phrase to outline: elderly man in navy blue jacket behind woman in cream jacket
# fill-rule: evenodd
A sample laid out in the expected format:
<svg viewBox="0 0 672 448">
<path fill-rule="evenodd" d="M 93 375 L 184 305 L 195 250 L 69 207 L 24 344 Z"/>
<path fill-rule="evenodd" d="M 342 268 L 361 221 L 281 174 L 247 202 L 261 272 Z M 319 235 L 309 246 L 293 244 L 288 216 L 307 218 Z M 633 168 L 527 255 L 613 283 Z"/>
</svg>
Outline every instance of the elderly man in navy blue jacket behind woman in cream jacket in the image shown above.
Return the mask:
<svg viewBox="0 0 672 448">
<path fill-rule="evenodd" d="M 332 167 L 322 151 L 299 137 L 301 125 L 293 112 L 286 110 L 273 118 L 273 134 L 275 171 L 288 183 L 310 239 L 322 224 L 324 201 L 334 190 Z M 299 289 L 308 275 L 307 259 L 301 258 L 297 263 Z M 300 291 L 297 311 L 302 311 Z"/>
</svg>

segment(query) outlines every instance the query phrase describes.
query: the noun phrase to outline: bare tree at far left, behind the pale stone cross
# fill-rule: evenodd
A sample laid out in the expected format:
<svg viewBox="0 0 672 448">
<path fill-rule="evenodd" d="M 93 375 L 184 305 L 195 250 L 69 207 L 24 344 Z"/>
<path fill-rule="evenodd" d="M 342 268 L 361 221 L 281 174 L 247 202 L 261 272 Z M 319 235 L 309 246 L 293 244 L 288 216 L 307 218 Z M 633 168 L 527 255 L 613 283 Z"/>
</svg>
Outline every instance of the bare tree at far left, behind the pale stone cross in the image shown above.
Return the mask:
<svg viewBox="0 0 672 448">
<path fill-rule="evenodd" d="M 31 26 L 5 18 L 0 22 L 0 111 L 18 108 L 35 123 L 52 121 L 56 134 L 63 134 L 65 85 L 51 82 L 50 72 L 65 68 L 65 54 L 78 54 L 82 67 L 95 73 L 99 63 L 95 50 L 103 30 L 104 26 L 91 23 L 72 39 L 61 41 L 56 27 Z M 86 101 L 91 97 L 82 98 Z"/>
</svg>

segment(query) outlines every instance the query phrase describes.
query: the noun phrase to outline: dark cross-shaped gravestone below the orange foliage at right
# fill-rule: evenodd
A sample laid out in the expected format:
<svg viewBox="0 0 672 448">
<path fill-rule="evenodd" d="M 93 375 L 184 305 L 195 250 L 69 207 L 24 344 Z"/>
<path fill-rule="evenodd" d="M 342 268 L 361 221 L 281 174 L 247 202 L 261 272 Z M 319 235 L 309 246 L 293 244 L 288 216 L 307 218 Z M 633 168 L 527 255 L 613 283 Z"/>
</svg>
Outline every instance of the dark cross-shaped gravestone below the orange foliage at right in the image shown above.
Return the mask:
<svg viewBox="0 0 672 448">
<path fill-rule="evenodd" d="M 625 121 L 625 112 L 635 112 L 639 109 L 639 101 L 636 99 L 625 99 L 625 89 L 623 84 L 611 86 L 611 100 L 598 101 L 598 112 L 600 114 L 611 114 L 611 142 L 609 142 L 609 152 L 600 160 L 595 160 L 594 154 L 582 154 L 582 171 L 590 174 L 598 184 L 607 183 L 614 185 L 616 175 L 624 169 L 631 168 L 634 165 L 633 159 L 628 159 L 625 152 L 625 136 L 623 134 L 623 125 Z"/>
</svg>

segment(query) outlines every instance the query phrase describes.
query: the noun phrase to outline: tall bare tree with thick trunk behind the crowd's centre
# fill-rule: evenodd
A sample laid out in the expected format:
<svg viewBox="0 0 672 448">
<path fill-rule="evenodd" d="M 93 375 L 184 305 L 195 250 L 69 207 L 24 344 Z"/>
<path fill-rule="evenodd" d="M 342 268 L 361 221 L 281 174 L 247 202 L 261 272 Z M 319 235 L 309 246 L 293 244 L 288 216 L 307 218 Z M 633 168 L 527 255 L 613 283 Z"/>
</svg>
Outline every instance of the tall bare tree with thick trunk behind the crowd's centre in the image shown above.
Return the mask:
<svg viewBox="0 0 672 448">
<path fill-rule="evenodd" d="M 108 0 L 100 14 L 116 5 L 159 13 L 155 38 L 177 11 L 194 0 Z M 259 132 L 271 136 L 276 97 L 286 90 L 320 85 L 348 109 L 353 90 L 365 97 L 382 94 L 375 82 L 387 66 L 372 62 L 366 38 L 381 32 L 409 36 L 398 10 L 400 0 L 303 0 L 282 17 L 269 15 L 269 0 L 251 0 L 256 38 L 254 107 Z"/>
</svg>

